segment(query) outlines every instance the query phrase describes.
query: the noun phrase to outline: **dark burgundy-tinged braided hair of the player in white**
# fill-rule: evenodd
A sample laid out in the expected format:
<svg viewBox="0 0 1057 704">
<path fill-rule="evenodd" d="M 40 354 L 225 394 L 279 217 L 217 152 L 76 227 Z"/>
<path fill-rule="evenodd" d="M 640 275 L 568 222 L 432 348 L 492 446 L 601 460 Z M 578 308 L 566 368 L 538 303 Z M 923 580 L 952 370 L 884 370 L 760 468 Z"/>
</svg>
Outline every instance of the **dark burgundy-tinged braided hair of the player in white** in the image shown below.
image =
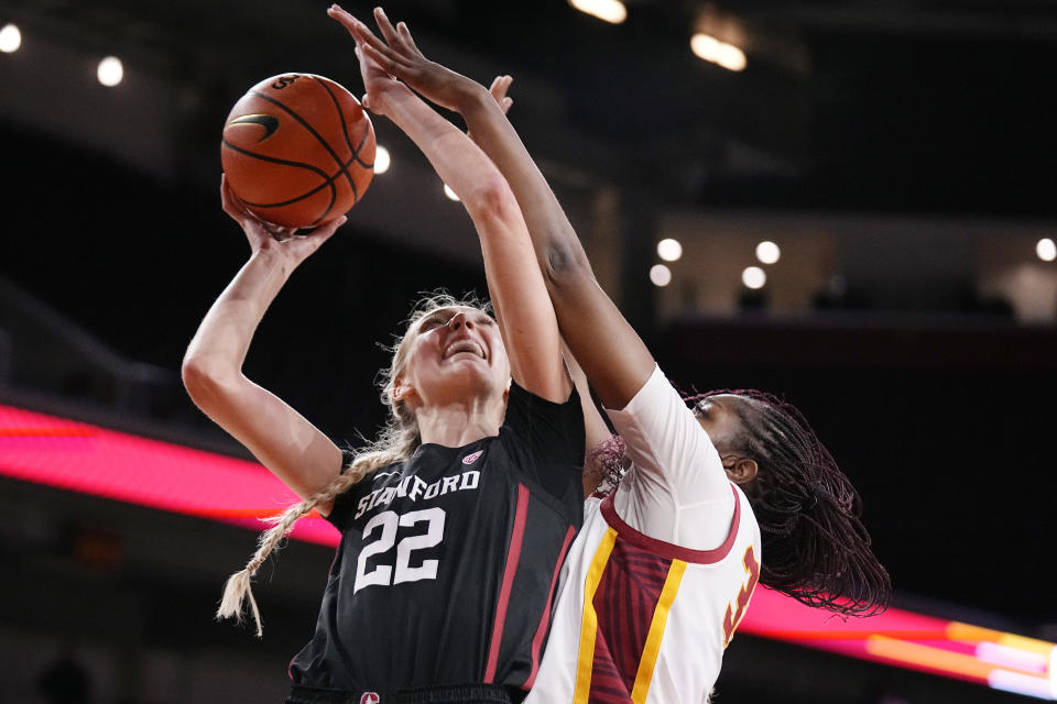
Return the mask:
<svg viewBox="0 0 1057 704">
<path fill-rule="evenodd" d="M 721 452 L 756 462 L 741 485 L 760 524 L 760 581 L 838 614 L 870 616 L 887 608 L 892 583 L 870 547 L 862 502 L 851 481 L 792 404 L 755 389 L 691 396 L 695 413 L 717 394 L 733 394 L 741 432 Z"/>
</svg>

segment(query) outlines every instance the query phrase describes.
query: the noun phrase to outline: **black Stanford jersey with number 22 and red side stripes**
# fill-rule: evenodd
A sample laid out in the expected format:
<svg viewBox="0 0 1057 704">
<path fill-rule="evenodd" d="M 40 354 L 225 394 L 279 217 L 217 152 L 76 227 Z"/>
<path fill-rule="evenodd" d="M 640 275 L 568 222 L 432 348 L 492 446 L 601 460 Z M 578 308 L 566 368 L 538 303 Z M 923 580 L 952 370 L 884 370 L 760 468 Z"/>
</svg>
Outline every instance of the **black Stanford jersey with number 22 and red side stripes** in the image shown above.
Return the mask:
<svg viewBox="0 0 1057 704">
<path fill-rule="evenodd" d="M 582 522 L 584 419 L 513 384 L 495 437 L 423 444 L 338 497 L 341 531 L 295 684 L 527 689 Z"/>
</svg>

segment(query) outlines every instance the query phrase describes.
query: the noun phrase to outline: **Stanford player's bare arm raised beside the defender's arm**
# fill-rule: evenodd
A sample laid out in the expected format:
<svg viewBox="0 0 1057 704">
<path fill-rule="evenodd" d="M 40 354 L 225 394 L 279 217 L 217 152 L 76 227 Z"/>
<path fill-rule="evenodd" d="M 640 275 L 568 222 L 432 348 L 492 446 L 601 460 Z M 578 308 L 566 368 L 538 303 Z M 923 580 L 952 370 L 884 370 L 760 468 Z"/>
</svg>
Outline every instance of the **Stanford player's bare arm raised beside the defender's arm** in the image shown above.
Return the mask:
<svg viewBox="0 0 1057 704">
<path fill-rule="evenodd" d="M 337 6 L 329 14 L 353 38 L 362 38 L 350 14 Z M 361 47 L 362 41 L 357 56 L 367 89 L 364 106 L 390 118 L 415 142 L 473 220 L 514 381 L 543 398 L 564 402 L 571 382 L 562 361 L 554 307 L 538 267 L 524 265 L 534 255 L 524 217 L 506 179 L 477 144 L 407 86 L 394 80 Z M 494 105 L 491 96 L 489 99 Z"/>
</svg>

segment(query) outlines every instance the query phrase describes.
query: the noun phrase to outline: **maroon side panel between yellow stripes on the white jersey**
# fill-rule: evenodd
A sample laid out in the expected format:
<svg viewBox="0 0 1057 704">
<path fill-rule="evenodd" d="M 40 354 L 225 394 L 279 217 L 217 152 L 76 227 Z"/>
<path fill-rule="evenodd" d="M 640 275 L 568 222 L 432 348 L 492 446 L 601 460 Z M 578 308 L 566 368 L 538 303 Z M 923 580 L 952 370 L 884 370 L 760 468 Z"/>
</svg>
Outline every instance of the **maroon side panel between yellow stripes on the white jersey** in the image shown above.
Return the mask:
<svg viewBox="0 0 1057 704">
<path fill-rule="evenodd" d="M 653 554 L 618 535 L 595 592 L 598 629 L 591 702 L 631 702 L 639 662 L 653 623 L 669 558 Z"/>
</svg>

